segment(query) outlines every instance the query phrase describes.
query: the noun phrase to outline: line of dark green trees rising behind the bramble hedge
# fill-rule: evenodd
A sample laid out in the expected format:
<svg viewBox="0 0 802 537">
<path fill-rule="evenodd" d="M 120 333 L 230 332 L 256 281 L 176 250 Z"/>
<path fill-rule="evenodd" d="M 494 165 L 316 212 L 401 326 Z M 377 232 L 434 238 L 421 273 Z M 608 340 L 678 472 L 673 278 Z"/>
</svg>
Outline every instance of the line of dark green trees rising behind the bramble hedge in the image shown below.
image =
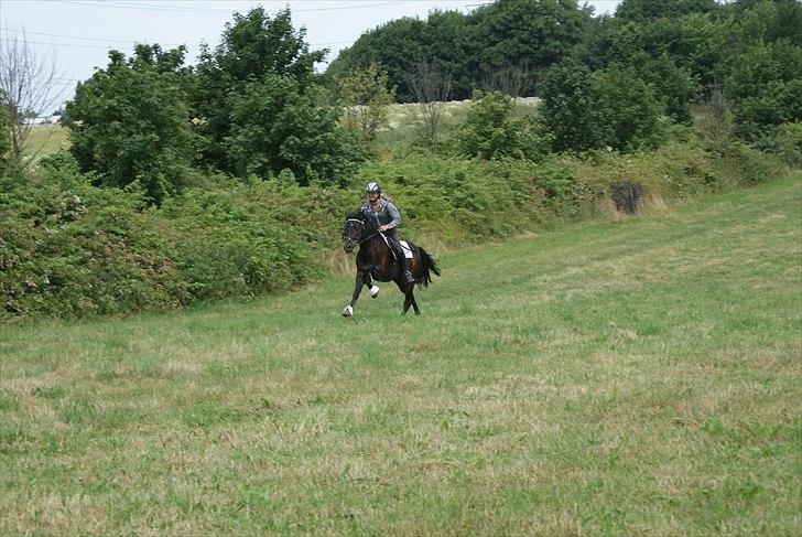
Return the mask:
<svg viewBox="0 0 802 537">
<path fill-rule="evenodd" d="M 799 28 L 796 0 L 624 0 L 603 17 L 576 0 L 497 0 L 388 22 L 318 74 L 327 51 L 310 49 L 290 10 L 256 8 L 235 13 L 196 65 L 184 47 L 111 51 L 63 122 L 82 172 L 155 204 L 191 169 L 345 185 L 395 100 L 420 105 L 426 143 L 444 150 L 441 103 L 473 97 L 446 150 L 483 159 L 655 147 L 691 121 L 692 106 L 771 149 L 778 129 L 799 143 Z M 18 103 L 3 89 L 8 162 L 19 152 L 9 138 Z M 510 99 L 527 95 L 542 98 L 539 115 L 512 119 Z"/>
</svg>

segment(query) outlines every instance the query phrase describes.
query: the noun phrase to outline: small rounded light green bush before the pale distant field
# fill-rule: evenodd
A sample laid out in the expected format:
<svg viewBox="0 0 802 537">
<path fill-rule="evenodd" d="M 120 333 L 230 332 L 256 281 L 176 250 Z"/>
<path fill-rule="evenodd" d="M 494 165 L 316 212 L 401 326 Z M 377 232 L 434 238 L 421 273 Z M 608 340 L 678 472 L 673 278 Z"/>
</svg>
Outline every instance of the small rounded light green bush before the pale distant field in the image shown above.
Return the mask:
<svg viewBox="0 0 802 537">
<path fill-rule="evenodd" d="M 512 99 L 500 92 L 474 93 L 465 127 L 458 133 L 459 150 L 485 160 L 511 157 L 538 160 L 549 144 L 530 118 L 511 118 Z"/>
</svg>

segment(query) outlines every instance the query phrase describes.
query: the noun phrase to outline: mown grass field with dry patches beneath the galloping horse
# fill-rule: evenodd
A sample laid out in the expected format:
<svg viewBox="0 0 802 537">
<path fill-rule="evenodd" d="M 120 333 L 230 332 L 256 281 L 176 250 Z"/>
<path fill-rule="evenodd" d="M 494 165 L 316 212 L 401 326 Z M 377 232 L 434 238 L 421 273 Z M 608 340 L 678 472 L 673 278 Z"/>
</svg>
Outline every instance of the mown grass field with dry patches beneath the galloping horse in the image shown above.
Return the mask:
<svg viewBox="0 0 802 537">
<path fill-rule="evenodd" d="M 802 176 L 441 265 L 0 327 L 0 534 L 802 531 Z"/>
</svg>

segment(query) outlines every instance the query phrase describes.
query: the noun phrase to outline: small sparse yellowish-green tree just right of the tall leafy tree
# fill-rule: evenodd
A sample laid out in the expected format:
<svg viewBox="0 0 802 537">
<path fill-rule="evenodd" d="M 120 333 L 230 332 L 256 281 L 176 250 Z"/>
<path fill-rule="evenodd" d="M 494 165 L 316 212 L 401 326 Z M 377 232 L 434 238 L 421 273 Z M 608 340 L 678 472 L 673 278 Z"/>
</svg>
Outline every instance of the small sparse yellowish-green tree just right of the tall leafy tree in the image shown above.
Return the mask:
<svg viewBox="0 0 802 537">
<path fill-rule="evenodd" d="M 345 123 L 358 130 L 367 141 L 387 122 L 395 88 L 387 88 L 387 72 L 375 63 L 366 69 L 354 69 L 337 77 L 339 97 L 345 105 Z"/>
</svg>

